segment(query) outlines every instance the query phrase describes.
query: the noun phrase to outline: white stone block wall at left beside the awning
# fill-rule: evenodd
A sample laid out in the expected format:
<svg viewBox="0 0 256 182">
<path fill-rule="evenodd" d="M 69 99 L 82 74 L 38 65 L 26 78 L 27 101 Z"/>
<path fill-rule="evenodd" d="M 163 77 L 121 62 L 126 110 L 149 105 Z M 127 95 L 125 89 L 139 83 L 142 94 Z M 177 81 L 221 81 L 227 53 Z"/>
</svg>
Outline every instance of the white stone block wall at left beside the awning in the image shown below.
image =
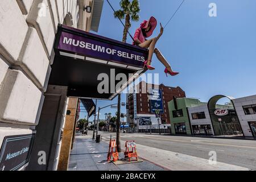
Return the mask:
<svg viewBox="0 0 256 182">
<path fill-rule="evenodd" d="M 57 24 L 67 14 L 76 28 L 77 0 L 0 1 L 0 146 L 7 135 L 36 132 Z"/>
</svg>

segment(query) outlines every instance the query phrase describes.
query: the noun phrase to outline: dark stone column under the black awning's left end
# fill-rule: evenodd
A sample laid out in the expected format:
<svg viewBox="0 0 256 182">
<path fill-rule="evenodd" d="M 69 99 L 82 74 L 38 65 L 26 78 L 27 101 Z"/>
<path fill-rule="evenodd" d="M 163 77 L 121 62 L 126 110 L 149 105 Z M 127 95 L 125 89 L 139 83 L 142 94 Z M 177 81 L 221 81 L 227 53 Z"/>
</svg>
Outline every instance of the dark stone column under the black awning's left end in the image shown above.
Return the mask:
<svg viewBox="0 0 256 182">
<path fill-rule="evenodd" d="M 28 171 L 54 171 L 61 145 L 61 129 L 67 108 L 67 86 L 48 85 L 36 137 L 31 152 Z M 39 152 L 46 154 L 46 163 L 39 164 Z M 43 155 L 42 155 L 43 156 Z M 41 160 L 43 161 L 43 159 Z"/>
</svg>

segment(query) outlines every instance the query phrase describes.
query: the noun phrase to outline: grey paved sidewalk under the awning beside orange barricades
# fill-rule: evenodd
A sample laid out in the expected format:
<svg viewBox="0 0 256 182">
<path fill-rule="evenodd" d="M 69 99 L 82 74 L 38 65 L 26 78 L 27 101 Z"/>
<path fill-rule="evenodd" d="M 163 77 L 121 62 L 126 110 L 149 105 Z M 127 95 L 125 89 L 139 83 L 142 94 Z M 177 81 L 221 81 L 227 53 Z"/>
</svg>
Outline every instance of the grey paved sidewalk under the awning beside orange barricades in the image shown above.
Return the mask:
<svg viewBox="0 0 256 182">
<path fill-rule="evenodd" d="M 69 158 L 68 171 L 164 171 L 164 168 L 147 160 L 141 163 L 115 166 L 114 163 L 106 162 L 108 150 L 108 143 L 96 143 L 90 135 L 76 135 Z M 123 157 L 123 152 L 119 153 L 119 159 Z"/>
</svg>

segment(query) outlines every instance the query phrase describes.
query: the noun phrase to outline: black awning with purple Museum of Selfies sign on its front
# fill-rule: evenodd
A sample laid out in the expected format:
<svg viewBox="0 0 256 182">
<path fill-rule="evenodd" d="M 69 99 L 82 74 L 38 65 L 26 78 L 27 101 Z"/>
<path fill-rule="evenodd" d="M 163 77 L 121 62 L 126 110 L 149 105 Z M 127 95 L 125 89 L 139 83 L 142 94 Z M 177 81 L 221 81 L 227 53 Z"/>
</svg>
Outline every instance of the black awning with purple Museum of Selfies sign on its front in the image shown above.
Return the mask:
<svg viewBox="0 0 256 182">
<path fill-rule="evenodd" d="M 143 60 L 148 50 L 89 32 L 59 25 L 55 40 L 55 59 L 49 84 L 68 86 L 69 97 L 112 100 L 130 82 L 146 70 Z M 118 73 L 124 73 L 122 89 L 98 93 L 100 74 L 108 76 L 109 87 L 116 85 Z M 136 74 L 134 76 L 132 74 Z"/>
</svg>

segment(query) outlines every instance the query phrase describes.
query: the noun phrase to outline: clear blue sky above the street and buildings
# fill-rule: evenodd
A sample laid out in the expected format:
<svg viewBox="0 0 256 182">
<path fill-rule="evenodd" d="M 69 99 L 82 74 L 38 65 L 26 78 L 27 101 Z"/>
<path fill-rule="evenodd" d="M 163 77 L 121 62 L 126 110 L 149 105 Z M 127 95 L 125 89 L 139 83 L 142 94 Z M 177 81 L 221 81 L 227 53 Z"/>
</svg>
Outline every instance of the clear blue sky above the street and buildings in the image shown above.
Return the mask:
<svg viewBox="0 0 256 182">
<path fill-rule="evenodd" d="M 181 0 L 139 2 L 141 19 L 132 22 L 129 31 L 133 35 L 144 19 L 155 16 L 158 27 L 153 37 L 159 33 L 159 23 L 168 22 Z M 208 6 L 212 2 L 217 5 L 217 17 L 208 15 Z M 119 9 L 118 0 L 110 0 L 110 3 L 115 10 Z M 159 73 L 160 83 L 180 86 L 187 97 L 200 98 L 201 101 L 207 102 L 216 94 L 236 98 L 256 94 L 255 22 L 255 0 L 185 0 L 156 45 L 180 75 L 166 78 L 164 66 L 155 56 L 152 65 L 156 69 L 151 73 Z M 121 23 L 114 19 L 112 9 L 105 1 L 97 34 L 122 40 L 122 31 Z M 127 38 L 127 42 L 132 40 Z M 122 101 L 125 102 L 125 94 Z M 115 102 L 117 98 L 99 103 L 105 106 Z M 105 119 L 104 113 L 114 114 L 115 111 L 102 110 L 100 118 Z M 122 112 L 126 112 L 124 107 Z"/>
</svg>

